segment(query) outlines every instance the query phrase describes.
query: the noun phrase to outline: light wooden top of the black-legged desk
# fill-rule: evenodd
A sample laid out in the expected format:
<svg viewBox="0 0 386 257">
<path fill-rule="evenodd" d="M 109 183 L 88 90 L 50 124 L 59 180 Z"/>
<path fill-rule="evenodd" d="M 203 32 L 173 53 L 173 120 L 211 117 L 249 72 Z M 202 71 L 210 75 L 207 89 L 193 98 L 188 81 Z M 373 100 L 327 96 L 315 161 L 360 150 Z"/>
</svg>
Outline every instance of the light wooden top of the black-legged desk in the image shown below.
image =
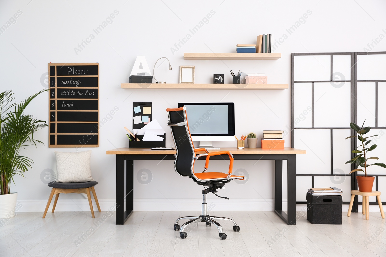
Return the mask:
<svg viewBox="0 0 386 257">
<path fill-rule="evenodd" d="M 208 152 L 230 151 L 232 155 L 305 155 L 306 150 L 284 148 L 220 148 L 208 149 Z M 152 150 L 149 148 L 117 148 L 106 151 L 107 155 L 174 155 L 176 150 Z M 201 153 L 201 152 L 198 152 Z M 202 152 L 204 153 L 204 152 Z"/>
</svg>

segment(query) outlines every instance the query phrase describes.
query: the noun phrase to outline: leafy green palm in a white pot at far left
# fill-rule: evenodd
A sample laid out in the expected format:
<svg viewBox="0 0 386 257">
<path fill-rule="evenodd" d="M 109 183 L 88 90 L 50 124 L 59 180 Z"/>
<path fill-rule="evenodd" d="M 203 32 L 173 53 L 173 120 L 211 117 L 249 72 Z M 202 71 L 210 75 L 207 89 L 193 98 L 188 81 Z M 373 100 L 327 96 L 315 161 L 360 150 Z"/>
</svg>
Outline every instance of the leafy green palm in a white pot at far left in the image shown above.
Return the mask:
<svg viewBox="0 0 386 257">
<path fill-rule="evenodd" d="M 45 121 L 34 119 L 23 114 L 24 109 L 42 90 L 15 103 L 12 91 L 0 93 L 0 218 L 13 217 L 16 206 L 17 192 L 11 192 L 11 181 L 16 174 L 24 176 L 24 172 L 32 168 L 33 161 L 20 155 L 20 149 L 42 143 L 34 138 L 34 133 L 46 127 Z"/>
</svg>

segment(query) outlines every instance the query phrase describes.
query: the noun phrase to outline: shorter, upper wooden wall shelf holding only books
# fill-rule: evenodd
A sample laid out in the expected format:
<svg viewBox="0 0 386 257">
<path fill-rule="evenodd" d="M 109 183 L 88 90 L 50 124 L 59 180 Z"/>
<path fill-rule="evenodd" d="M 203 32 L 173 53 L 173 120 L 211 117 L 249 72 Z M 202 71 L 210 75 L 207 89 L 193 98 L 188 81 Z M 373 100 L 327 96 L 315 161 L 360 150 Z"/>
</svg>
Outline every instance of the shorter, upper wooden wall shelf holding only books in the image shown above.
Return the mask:
<svg viewBox="0 0 386 257">
<path fill-rule="evenodd" d="M 184 53 L 185 60 L 277 60 L 281 53 Z"/>
</svg>

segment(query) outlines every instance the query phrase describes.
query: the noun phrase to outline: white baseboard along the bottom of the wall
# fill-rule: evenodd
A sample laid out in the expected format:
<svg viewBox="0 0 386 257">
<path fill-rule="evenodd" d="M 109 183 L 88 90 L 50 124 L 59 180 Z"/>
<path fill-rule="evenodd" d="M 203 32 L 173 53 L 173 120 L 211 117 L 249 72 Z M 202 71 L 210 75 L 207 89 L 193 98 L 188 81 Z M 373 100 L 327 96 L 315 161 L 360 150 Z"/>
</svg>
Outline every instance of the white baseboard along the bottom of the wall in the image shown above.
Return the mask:
<svg viewBox="0 0 386 257">
<path fill-rule="evenodd" d="M 115 199 L 98 199 L 103 212 L 115 209 Z M 18 212 L 43 212 L 47 200 L 17 200 Z M 97 210 L 95 201 L 94 210 Z M 134 199 L 134 211 L 200 211 L 202 199 Z M 208 210 L 213 211 L 273 211 L 273 199 L 209 199 Z M 49 211 L 52 210 L 52 200 Z M 286 199 L 283 200 L 283 210 L 287 210 Z M 347 212 L 349 205 L 342 205 L 342 212 Z M 58 212 L 89 212 L 87 199 L 59 199 L 56 204 Z M 362 212 L 362 205 L 358 205 Z M 307 211 L 307 205 L 296 205 L 296 211 Z M 378 205 L 370 205 L 370 212 L 379 212 Z"/>
</svg>

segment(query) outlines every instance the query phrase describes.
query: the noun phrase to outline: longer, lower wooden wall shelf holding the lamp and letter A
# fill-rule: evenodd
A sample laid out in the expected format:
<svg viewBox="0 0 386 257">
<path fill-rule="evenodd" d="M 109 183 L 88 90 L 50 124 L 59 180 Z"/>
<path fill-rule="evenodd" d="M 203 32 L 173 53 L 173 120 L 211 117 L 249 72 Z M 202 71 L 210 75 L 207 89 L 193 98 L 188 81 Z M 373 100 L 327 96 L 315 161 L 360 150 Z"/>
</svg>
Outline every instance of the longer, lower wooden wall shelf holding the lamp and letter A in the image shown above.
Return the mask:
<svg viewBox="0 0 386 257">
<path fill-rule="evenodd" d="M 288 84 L 135 84 L 122 83 L 123 89 L 287 89 Z"/>
</svg>

